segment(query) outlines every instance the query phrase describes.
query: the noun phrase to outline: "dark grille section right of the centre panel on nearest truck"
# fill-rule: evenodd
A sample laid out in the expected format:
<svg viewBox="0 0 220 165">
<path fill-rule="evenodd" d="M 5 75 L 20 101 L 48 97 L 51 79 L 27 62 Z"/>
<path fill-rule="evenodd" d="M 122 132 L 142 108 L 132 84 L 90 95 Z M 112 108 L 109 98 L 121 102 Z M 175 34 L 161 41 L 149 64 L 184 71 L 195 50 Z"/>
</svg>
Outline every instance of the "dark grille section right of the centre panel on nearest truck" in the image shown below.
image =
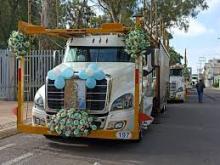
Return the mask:
<svg viewBox="0 0 220 165">
<path fill-rule="evenodd" d="M 105 108 L 107 80 L 97 80 L 96 87 L 87 89 L 86 92 L 86 109 L 88 110 L 103 110 Z"/>
</svg>

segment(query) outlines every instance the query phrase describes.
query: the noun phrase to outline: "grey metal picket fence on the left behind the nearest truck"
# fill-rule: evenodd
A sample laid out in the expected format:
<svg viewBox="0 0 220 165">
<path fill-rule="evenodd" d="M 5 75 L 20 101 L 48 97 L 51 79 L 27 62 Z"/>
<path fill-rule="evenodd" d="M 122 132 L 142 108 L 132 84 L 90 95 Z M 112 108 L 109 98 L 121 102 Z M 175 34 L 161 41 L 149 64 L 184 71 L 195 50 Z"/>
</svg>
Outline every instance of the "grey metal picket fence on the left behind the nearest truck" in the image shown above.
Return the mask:
<svg viewBox="0 0 220 165">
<path fill-rule="evenodd" d="M 34 99 L 36 91 L 45 83 L 47 72 L 55 63 L 61 63 L 63 54 L 63 50 L 33 50 L 25 57 L 25 100 Z M 9 50 L 0 50 L 0 99 L 16 100 L 17 66 L 18 61 Z"/>
</svg>

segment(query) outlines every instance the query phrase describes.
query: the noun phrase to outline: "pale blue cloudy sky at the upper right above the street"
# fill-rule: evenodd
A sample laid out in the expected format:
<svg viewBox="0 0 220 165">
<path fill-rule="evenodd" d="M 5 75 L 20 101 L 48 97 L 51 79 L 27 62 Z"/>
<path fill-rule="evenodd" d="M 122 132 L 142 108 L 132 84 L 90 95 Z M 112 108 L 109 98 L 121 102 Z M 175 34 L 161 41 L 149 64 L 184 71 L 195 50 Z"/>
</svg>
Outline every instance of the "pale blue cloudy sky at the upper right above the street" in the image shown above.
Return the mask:
<svg viewBox="0 0 220 165">
<path fill-rule="evenodd" d="M 220 59 L 220 0 L 207 0 L 208 10 L 201 11 L 196 19 L 190 19 L 187 33 L 171 29 L 171 46 L 184 55 L 186 48 L 188 66 L 193 73 L 203 66 L 204 61 Z M 218 39 L 219 38 L 219 39 Z"/>
</svg>

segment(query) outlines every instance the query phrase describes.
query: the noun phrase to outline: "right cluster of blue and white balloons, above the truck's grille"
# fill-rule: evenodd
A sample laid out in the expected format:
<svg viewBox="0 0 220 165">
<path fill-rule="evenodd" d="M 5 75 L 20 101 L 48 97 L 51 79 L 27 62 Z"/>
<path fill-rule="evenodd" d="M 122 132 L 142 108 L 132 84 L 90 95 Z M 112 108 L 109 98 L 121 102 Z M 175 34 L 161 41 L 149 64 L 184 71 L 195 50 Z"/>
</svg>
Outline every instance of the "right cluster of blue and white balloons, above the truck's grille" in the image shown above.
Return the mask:
<svg viewBox="0 0 220 165">
<path fill-rule="evenodd" d="M 96 80 L 103 80 L 105 73 L 94 63 L 89 64 L 85 70 L 79 71 L 79 78 L 86 80 L 87 88 L 95 88 Z"/>
</svg>

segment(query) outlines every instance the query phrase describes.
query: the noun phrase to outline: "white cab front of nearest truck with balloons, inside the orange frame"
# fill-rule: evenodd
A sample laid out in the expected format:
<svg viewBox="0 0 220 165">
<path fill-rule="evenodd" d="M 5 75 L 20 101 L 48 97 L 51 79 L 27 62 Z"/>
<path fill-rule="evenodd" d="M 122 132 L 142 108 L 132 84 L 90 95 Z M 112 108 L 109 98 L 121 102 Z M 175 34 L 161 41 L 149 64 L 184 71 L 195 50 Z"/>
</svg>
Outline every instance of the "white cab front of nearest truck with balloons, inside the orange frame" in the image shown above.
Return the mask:
<svg viewBox="0 0 220 165">
<path fill-rule="evenodd" d="M 67 115 L 64 110 L 76 111 L 75 117 L 69 116 L 71 123 L 75 120 L 75 125 L 70 126 L 75 128 L 75 136 L 80 136 L 80 131 L 86 134 L 89 129 L 133 130 L 135 64 L 124 49 L 124 37 L 118 35 L 68 40 L 63 63 L 48 72 L 45 89 L 36 94 L 45 95 L 45 123 L 52 130 L 59 132 L 59 127 L 65 127 L 66 123 L 55 126 L 56 120 L 62 121 L 58 115 Z M 40 124 L 37 121 L 44 119 L 35 109 L 36 106 L 33 122 Z"/>
</svg>

